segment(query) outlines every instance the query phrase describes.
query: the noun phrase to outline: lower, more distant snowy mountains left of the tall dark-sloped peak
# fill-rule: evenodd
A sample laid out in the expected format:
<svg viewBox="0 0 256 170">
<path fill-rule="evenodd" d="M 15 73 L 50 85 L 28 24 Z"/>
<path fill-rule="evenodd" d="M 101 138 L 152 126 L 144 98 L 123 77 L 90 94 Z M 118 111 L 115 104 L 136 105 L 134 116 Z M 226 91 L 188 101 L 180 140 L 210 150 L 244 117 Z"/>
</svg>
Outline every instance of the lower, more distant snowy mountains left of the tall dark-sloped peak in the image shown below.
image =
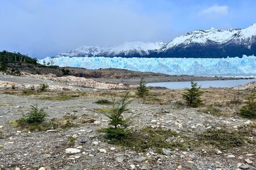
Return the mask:
<svg viewBox="0 0 256 170">
<path fill-rule="evenodd" d="M 69 52 L 60 53 L 55 57 L 142 57 L 158 52 L 164 42 L 129 41 L 117 46 L 81 46 Z"/>
</svg>

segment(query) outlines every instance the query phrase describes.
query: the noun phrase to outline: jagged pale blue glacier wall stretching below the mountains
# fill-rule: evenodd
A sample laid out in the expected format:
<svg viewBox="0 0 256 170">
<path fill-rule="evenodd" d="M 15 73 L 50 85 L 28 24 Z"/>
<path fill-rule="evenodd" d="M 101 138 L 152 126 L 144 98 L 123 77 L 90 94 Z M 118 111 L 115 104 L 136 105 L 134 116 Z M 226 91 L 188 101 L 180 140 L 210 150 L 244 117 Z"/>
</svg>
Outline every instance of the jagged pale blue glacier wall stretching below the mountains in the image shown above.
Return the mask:
<svg viewBox="0 0 256 170">
<path fill-rule="evenodd" d="M 117 68 L 133 71 L 150 71 L 164 74 L 256 74 L 256 57 L 227 58 L 122 58 L 122 57 L 57 57 L 44 58 L 61 67 L 84 67 L 85 69 Z"/>
</svg>

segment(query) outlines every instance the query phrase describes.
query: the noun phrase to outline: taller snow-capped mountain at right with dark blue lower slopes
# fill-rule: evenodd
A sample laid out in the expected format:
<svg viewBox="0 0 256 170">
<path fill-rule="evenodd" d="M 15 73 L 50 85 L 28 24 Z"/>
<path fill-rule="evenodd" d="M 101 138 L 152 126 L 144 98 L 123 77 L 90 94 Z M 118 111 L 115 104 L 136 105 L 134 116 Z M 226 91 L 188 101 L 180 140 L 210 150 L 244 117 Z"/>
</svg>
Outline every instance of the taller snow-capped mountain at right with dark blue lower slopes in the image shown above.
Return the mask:
<svg viewBox="0 0 256 170">
<path fill-rule="evenodd" d="M 244 29 L 210 28 L 185 33 L 158 50 L 162 57 L 241 57 L 256 54 L 256 23 Z"/>
</svg>

